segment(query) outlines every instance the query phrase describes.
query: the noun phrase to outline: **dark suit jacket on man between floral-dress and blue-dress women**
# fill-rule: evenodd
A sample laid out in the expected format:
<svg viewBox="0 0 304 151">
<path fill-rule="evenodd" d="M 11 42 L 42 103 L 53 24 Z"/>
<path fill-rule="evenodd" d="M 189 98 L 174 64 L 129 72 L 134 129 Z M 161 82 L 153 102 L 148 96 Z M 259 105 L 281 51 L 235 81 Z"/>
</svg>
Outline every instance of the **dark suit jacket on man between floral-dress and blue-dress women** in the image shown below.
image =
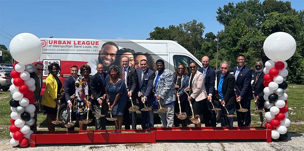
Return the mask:
<svg viewBox="0 0 304 151">
<path fill-rule="evenodd" d="M 104 81 L 106 76 L 107 74 L 104 72 L 103 73 Z M 99 106 L 97 99 L 105 94 L 105 84 L 102 83 L 102 80 L 98 73 L 94 74 L 91 77 L 89 87 L 91 90 L 91 94 L 93 95 L 93 101 L 92 101 L 93 105 Z"/>
</svg>

